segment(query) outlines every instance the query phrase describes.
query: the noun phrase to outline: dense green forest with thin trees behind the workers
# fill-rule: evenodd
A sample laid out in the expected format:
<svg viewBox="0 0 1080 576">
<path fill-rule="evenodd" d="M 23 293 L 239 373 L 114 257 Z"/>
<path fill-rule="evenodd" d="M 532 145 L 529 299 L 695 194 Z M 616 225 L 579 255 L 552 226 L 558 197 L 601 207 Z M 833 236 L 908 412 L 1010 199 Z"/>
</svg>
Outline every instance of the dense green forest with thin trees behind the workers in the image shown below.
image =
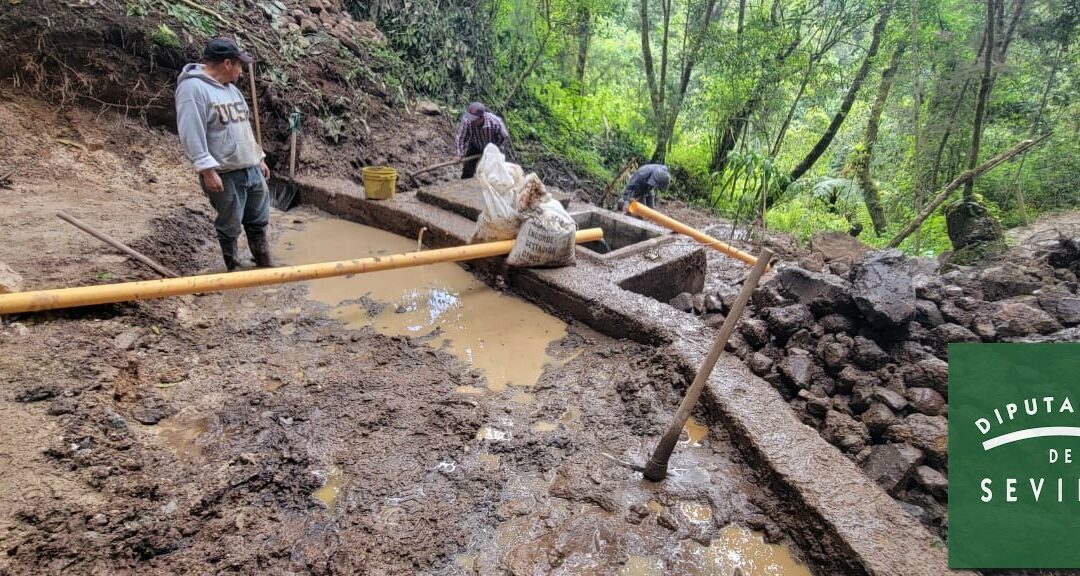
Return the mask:
<svg viewBox="0 0 1080 576">
<path fill-rule="evenodd" d="M 741 222 L 885 245 L 964 170 L 1048 134 L 901 246 L 948 250 L 961 201 L 1005 226 L 1080 205 L 1077 0 L 348 3 L 414 91 L 484 99 L 597 182 L 666 162 L 673 193 Z"/>
</svg>

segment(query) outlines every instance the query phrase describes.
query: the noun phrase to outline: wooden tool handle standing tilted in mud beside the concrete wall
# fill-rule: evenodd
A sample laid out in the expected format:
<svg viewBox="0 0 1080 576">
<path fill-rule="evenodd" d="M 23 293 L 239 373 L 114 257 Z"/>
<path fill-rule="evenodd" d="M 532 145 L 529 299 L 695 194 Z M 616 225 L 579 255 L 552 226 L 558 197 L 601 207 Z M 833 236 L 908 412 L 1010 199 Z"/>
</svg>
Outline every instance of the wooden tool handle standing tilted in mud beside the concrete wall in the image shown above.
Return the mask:
<svg viewBox="0 0 1080 576">
<path fill-rule="evenodd" d="M 693 412 L 693 406 L 698 403 L 698 398 L 701 397 L 701 391 L 705 388 L 708 376 L 713 374 L 716 361 L 724 353 L 724 348 L 728 345 L 728 338 L 734 332 L 735 324 L 739 323 L 739 318 L 742 317 L 743 310 L 746 309 L 746 303 L 750 302 L 751 295 L 754 294 L 754 289 L 757 287 L 757 282 L 761 279 L 761 274 L 765 273 L 770 259 L 772 259 L 772 251 L 762 247 L 761 252 L 757 255 L 757 264 L 754 265 L 750 277 L 743 282 L 743 287 L 739 292 L 739 298 L 735 299 L 735 303 L 731 306 L 731 311 L 728 312 L 727 319 L 724 320 L 724 325 L 720 327 L 720 333 L 716 335 L 716 340 L 713 343 L 712 349 L 708 350 L 708 356 L 701 363 L 698 376 L 694 377 L 690 389 L 683 397 L 683 403 L 679 404 L 678 411 L 675 413 L 675 419 L 672 420 L 667 432 L 660 439 L 660 443 L 657 444 L 652 456 L 649 457 L 648 464 L 645 465 L 645 478 L 653 482 L 659 482 L 667 478 L 667 461 L 671 459 L 672 451 L 675 450 L 675 444 L 678 443 L 678 439 L 683 434 L 683 427 L 686 426 L 686 420 L 690 418 L 690 413 Z"/>
</svg>

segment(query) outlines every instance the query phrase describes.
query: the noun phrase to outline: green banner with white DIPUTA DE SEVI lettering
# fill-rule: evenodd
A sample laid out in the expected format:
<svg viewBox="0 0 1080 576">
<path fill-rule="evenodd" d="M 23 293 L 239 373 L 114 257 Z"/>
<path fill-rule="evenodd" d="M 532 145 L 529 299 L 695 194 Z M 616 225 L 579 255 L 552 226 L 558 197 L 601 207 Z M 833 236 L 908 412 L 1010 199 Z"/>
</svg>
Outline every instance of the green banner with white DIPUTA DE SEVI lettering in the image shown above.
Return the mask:
<svg viewBox="0 0 1080 576">
<path fill-rule="evenodd" d="M 949 346 L 954 568 L 1080 567 L 1080 344 Z"/>
</svg>

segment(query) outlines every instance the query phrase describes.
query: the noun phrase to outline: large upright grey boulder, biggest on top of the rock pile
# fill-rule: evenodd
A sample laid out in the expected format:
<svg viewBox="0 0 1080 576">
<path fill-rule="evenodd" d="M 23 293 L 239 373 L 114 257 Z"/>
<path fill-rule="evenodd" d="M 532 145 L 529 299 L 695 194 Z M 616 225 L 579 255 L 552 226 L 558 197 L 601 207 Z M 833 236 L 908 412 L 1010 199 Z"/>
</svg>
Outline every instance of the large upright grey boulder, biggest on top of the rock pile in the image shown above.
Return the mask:
<svg viewBox="0 0 1080 576">
<path fill-rule="evenodd" d="M 896 250 L 878 252 L 852 271 L 852 298 L 873 325 L 896 329 L 915 319 L 915 287 Z"/>
</svg>

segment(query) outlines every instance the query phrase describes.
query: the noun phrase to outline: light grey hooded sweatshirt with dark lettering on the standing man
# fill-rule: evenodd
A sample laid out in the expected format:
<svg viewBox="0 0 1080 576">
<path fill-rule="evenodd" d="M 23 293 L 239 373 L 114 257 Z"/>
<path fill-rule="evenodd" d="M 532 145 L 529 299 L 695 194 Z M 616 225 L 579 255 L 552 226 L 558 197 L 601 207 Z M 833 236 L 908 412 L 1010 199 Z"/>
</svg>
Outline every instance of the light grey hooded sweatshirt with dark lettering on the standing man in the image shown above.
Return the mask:
<svg viewBox="0 0 1080 576">
<path fill-rule="evenodd" d="M 176 85 L 176 129 L 197 171 L 231 172 L 266 156 L 252 133 L 251 110 L 240 89 L 225 85 L 188 64 Z"/>
</svg>

